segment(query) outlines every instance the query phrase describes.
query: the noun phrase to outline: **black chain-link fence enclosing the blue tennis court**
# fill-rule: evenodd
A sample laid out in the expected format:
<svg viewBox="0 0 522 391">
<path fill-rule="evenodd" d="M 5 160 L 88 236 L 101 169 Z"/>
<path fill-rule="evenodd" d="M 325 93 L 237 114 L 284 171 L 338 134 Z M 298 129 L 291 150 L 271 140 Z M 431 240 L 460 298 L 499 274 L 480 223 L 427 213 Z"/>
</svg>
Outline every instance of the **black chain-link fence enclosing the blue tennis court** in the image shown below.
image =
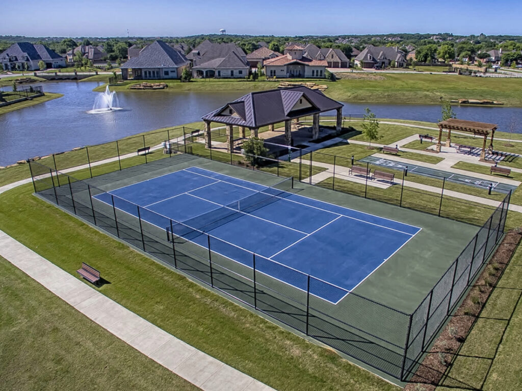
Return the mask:
<svg viewBox="0 0 522 391">
<path fill-rule="evenodd" d="M 227 152 L 226 146 L 221 147 L 225 152 L 219 150 L 218 144 L 227 143 L 226 132 L 218 129 L 212 135 L 211 141 L 217 149 L 205 148 L 203 138 L 203 131 L 198 129 L 172 128 L 54 154 L 39 161 L 29 160 L 34 190 L 165 264 L 306 335 L 400 380 L 410 376 L 502 238 L 509 195 L 495 210 L 484 208 L 481 213 L 490 213 L 477 235 L 413 313 L 385 306 L 355 292 L 346 292 L 342 300 L 331 303 L 322 299 L 322 292 L 341 288 L 207 235 L 193 224 L 176 222 L 113 195 L 108 198 L 106 188 L 114 188 L 119 181 L 128 185 L 158 176 L 162 170 L 172 170 L 194 156 L 201 156 L 290 177 L 278 182 L 276 188 L 293 186 L 295 177 L 312 185 L 440 216 L 458 215 L 458 211 L 445 209 L 450 199 L 443 193 L 444 180 L 441 180 L 441 194 L 417 193 L 406 188 L 404 182 L 388 194 L 369 186 L 367 176 L 358 182 L 343 179 L 353 166 L 372 168 L 369 162 L 321 152 L 303 154 L 299 149 L 285 146 L 280 156 L 255 156 L 258 163 L 250 165 L 244 155 Z M 330 182 L 314 183 L 314 173 L 319 168 L 331 170 Z M 74 176 L 67 174 L 73 170 Z M 411 175 L 394 174 L 394 181 L 399 184 Z M 420 194 L 431 200 L 421 201 Z M 426 209 L 426 203 L 431 209 Z M 466 216 L 465 212 L 458 219 L 479 222 L 479 218 Z M 222 253 L 234 253 L 234 259 Z"/>
</svg>

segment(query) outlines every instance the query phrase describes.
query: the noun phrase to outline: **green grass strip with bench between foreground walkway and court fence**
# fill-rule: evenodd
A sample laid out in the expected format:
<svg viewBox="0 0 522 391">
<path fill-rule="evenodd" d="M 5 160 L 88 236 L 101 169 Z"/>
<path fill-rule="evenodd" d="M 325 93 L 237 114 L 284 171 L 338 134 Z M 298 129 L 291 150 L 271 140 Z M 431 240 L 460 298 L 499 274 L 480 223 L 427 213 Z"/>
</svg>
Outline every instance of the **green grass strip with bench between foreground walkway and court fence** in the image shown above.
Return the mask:
<svg viewBox="0 0 522 391">
<path fill-rule="evenodd" d="M 398 390 L 332 350 L 264 320 L 41 201 L 32 191 L 29 184 L 0 196 L 0 229 L 72 275 L 82 261 L 99 268 L 111 282 L 100 289 L 104 295 L 186 343 L 278 390 Z M 22 322 L 31 316 L 29 311 Z M 23 335 L 33 345 L 38 337 L 34 329 Z M 130 371 L 129 365 L 125 369 Z"/>
</svg>

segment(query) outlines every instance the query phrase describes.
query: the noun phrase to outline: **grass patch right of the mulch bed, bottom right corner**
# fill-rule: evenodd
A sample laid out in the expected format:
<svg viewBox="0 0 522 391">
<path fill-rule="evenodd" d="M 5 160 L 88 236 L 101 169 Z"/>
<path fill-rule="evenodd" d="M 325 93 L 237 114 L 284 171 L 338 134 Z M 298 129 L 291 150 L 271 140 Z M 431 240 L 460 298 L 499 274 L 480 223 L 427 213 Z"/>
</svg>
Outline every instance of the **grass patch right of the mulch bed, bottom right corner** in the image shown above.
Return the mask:
<svg viewBox="0 0 522 391">
<path fill-rule="evenodd" d="M 522 246 L 471 329 L 437 391 L 515 391 L 522 384 Z"/>
</svg>

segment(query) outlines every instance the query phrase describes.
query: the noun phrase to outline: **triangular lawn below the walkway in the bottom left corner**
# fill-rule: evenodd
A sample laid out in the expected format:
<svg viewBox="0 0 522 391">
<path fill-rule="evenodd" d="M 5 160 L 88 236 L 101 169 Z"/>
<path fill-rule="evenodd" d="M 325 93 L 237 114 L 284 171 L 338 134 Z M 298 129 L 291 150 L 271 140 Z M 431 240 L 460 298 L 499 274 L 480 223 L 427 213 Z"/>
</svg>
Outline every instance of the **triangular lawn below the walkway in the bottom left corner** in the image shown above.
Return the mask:
<svg viewBox="0 0 522 391">
<path fill-rule="evenodd" d="M 0 257 L 4 390 L 197 390 Z"/>
</svg>

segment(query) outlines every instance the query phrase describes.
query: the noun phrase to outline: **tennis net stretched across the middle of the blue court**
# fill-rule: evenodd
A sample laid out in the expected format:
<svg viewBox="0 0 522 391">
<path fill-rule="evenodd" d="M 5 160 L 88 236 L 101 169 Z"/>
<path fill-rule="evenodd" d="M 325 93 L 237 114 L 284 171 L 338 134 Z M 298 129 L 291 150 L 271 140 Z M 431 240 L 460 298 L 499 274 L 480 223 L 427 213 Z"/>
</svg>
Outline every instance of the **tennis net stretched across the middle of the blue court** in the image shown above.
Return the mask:
<svg viewBox="0 0 522 391">
<path fill-rule="evenodd" d="M 292 194 L 288 192 L 288 190 L 292 189 L 292 185 L 293 178 L 290 177 L 275 185 L 255 190 L 255 193 L 249 194 L 240 200 L 221 205 L 221 207 L 217 207 L 217 209 L 213 209 L 210 212 L 202 213 L 175 224 L 175 228 L 173 227 L 174 235 L 186 236 L 191 231 L 197 231 L 194 233 L 199 235 L 211 231 L 243 216 L 245 213 L 252 213 L 272 202 L 288 197 Z"/>
</svg>

